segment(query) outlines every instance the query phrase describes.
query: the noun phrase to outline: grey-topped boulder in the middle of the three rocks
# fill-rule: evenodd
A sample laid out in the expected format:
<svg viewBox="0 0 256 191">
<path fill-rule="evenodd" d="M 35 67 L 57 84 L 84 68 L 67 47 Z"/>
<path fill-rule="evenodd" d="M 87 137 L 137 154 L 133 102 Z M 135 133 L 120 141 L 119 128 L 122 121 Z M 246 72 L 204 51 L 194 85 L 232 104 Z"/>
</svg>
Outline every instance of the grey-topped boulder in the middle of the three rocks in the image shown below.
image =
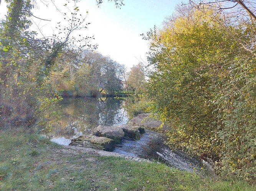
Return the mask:
<svg viewBox="0 0 256 191">
<path fill-rule="evenodd" d="M 124 137 L 124 131 L 121 128 L 113 128 L 112 126 L 99 125 L 93 129 L 93 134 L 99 137 L 113 139 L 116 143 L 120 143 Z"/>
</svg>

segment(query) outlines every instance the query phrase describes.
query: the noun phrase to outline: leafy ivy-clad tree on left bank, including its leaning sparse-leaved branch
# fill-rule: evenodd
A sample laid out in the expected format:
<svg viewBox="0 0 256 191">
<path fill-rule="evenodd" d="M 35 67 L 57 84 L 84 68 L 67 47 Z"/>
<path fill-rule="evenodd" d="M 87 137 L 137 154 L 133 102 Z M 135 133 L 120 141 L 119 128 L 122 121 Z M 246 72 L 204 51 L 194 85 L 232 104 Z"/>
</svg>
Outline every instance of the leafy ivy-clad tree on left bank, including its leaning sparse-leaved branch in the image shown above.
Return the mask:
<svg viewBox="0 0 256 191">
<path fill-rule="evenodd" d="M 56 63 L 63 52 L 96 48 L 89 44 L 91 37 L 76 40 L 74 31 L 84 29 L 89 23 L 79 8 L 64 13 L 66 25 L 59 24 L 61 32 L 52 37 L 36 38 L 30 32 L 33 3 L 30 0 L 6 0 L 8 13 L 0 27 L 0 121 L 7 124 L 46 128 L 55 118 L 57 102 L 61 97 L 56 87 L 49 83 Z M 102 1 L 99 1 L 102 2 Z M 114 0 L 121 6 L 119 0 Z M 67 4 L 64 4 L 66 6 Z M 64 35 L 63 35 L 64 34 Z M 76 44 L 77 42 L 77 44 Z M 62 54 L 64 55 L 64 53 Z M 69 65 L 71 66 L 71 65 Z M 73 66 L 69 72 L 73 72 Z M 49 127 L 47 127 L 49 128 Z M 31 128 L 32 129 L 32 128 Z"/>
</svg>

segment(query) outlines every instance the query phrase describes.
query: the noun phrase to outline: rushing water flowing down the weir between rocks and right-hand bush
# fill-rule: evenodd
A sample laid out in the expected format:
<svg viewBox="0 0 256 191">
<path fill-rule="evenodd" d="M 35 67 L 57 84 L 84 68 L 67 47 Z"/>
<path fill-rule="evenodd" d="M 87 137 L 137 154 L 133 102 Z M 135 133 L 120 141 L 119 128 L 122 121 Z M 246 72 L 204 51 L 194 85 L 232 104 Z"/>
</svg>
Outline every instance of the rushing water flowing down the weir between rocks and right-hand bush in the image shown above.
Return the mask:
<svg viewBox="0 0 256 191">
<path fill-rule="evenodd" d="M 117 145 L 113 152 L 163 162 L 170 167 L 188 172 L 203 172 L 200 159 L 190 157 L 181 151 L 172 151 L 164 142 L 165 138 L 160 133 L 145 130 L 140 140 L 124 138 L 122 144 Z"/>
</svg>

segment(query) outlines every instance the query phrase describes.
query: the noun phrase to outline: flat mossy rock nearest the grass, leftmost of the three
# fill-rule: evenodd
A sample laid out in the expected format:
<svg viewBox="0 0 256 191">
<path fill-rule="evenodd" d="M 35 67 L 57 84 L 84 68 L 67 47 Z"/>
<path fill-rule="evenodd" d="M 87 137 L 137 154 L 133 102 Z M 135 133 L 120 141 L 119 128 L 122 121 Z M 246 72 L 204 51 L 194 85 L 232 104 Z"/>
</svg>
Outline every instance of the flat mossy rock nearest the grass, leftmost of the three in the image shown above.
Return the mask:
<svg viewBox="0 0 256 191">
<path fill-rule="evenodd" d="M 78 138 L 71 139 L 70 146 L 80 146 L 104 151 L 113 151 L 116 147 L 116 142 L 113 139 L 106 137 L 97 137 L 94 135 L 82 135 Z"/>
</svg>

